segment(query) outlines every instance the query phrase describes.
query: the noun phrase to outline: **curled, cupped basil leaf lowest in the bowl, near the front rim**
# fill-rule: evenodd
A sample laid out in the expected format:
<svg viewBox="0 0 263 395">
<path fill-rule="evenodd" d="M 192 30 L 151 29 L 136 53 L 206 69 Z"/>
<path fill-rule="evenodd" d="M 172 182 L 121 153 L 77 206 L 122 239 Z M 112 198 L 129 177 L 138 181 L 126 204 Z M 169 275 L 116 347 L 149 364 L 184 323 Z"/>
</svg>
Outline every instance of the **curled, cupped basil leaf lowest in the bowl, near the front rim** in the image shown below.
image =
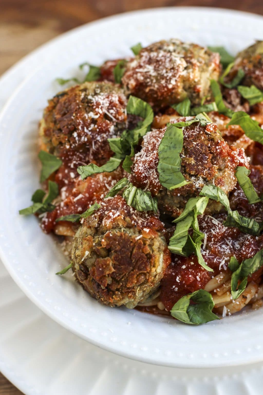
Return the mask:
<svg viewBox="0 0 263 395">
<path fill-rule="evenodd" d="M 190 301 L 194 302 L 194 304 L 190 305 Z M 174 318 L 186 324 L 199 325 L 220 319 L 216 314 L 212 313 L 214 306 L 215 303 L 211 293 L 205 290 L 198 290 L 181 297 L 173 305 L 170 313 Z"/>
</svg>

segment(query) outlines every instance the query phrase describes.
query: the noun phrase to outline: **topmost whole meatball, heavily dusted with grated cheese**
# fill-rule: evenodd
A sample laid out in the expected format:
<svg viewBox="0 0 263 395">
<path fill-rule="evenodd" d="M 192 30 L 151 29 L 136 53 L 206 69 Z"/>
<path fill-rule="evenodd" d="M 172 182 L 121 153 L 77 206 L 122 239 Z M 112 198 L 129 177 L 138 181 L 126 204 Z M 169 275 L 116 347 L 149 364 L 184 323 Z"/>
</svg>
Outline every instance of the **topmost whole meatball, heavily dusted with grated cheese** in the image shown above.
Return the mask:
<svg viewBox="0 0 263 395">
<path fill-rule="evenodd" d="M 209 93 L 210 79 L 218 79 L 217 53 L 197 44 L 162 40 L 142 49 L 127 63 L 122 83 L 129 94 L 154 109 L 181 102 L 188 97 L 200 104 Z"/>
</svg>

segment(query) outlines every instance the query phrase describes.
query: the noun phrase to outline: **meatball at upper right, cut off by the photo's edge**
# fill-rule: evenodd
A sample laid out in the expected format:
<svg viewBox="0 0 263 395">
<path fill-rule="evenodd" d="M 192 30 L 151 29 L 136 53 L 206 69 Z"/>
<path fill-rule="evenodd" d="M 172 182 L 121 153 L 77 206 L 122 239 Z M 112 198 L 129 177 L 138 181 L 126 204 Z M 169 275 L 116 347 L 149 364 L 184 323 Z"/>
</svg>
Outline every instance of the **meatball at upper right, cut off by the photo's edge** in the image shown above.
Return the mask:
<svg viewBox="0 0 263 395">
<path fill-rule="evenodd" d="M 257 88 L 263 90 L 263 41 L 256 41 L 255 44 L 237 54 L 228 76 L 230 80 L 240 68 L 245 73 L 242 85 L 248 87 L 256 85 Z"/>
</svg>

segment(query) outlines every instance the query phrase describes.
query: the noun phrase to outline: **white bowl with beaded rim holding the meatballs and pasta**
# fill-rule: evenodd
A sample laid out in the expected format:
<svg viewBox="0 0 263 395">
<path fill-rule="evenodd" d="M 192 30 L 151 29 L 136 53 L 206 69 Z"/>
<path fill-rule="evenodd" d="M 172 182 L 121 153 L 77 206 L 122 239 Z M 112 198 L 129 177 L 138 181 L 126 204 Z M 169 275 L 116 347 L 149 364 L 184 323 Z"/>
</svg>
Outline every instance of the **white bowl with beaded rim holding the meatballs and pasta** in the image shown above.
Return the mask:
<svg viewBox="0 0 263 395">
<path fill-rule="evenodd" d="M 127 310 L 108 308 L 85 293 L 71 273 L 55 275 L 67 262 L 34 217 L 18 210 L 38 187 L 37 122 L 48 97 L 88 60 L 128 55 L 129 47 L 178 37 L 201 45 L 224 45 L 235 53 L 263 38 L 263 18 L 236 11 L 165 8 L 118 15 L 82 26 L 40 50 L 39 69 L 8 101 L 0 119 L 0 252 L 17 284 L 50 317 L 93 344 L 160 365 L 215 367 L 263 359 L 263 310 L 244 312 L 200 327 Z M 30 62 L 35 62 L 35 51 Z M 43 59 L 45 61 L 43 62 Z M 35 65 L 35 63 L 34 63 Z"/>
</svg>

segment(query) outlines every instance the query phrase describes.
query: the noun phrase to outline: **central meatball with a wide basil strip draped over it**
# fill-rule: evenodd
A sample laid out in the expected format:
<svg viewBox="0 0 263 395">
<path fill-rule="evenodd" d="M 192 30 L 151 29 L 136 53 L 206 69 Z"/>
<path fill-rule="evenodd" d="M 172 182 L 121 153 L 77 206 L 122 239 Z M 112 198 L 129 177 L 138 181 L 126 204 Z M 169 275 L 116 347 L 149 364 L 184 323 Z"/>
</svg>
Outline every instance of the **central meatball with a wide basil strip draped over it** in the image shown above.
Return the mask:
<svg viewBox="0 0 263 395">
<path fill-rule="evenodd" d="M 189 120 L 191 117 L 179 118 Z M 167 190 L 159 181 L 157 166 L 159 162 L 158 147 L 166 128 L 152 130 L 143 139 L 142 150 L 135 155 L 131 182 L 138 188 L 146 189 L 157 197 L 162 213 L 179 216 L 189 198 L 198 196 L 205 184 L 214 184 L 228 194 L 237 179 L 236 166 L 247 166 L 243 149 L 228 145 L 221 137 L 213 123 L 201 126 L 194 122 L 183 128 L 183 150 L 181 156 L 181 173 L 190 183 L 180 188 Z M 221 205 L 209 201 L 205 213 L 213 214 Z"/>
</svg>

